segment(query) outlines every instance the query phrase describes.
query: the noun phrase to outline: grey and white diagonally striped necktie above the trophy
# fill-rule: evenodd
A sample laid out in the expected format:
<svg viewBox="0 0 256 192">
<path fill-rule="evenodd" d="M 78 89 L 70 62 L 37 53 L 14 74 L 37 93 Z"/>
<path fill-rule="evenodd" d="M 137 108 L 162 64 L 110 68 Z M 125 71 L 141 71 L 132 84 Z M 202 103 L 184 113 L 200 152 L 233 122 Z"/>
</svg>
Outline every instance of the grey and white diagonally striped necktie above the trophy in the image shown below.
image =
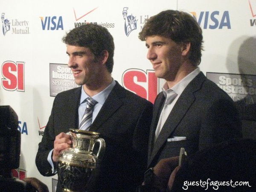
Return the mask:
<svg viewBox="0 0 256 192">
<path fill-rule="evenodd" d="M 84 111 L 84 115 L 81 119 L 81 123 L 79 125 L 79 129 L 88 130 L 90 128 L 90 125 L 92 124 L 93 119 L 93 107 L 96 105 L 96 101 L 88 97 L 87 99 L 84 99 L 84 102 L 87 102 L 86 109 Z"/>
</svg>

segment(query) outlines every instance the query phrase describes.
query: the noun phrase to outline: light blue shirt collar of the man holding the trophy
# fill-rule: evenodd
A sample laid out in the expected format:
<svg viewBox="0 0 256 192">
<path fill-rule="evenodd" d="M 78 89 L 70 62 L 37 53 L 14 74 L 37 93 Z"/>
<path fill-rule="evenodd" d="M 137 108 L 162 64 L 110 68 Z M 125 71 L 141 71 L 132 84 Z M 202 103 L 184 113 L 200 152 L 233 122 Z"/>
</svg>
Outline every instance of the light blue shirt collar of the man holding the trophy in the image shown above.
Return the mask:
<svg viewBox="0 0 256 192">
<path fill-rule="evenodd" d="M 111 84 L 108 85 L 104 90 L 97 93 L 96 95 L 92 96 L 92 98 L 98 102 L 99 104 L 104 104 L 108 95 L 110 94 L 113 87 L 116 85 L 116 81 L 112 79 Z M 80 104 L 84 101 L 84 99 L 87 99 L 89 96 L 87 93 L 85 93 L 84 88 L 81 88 L 81 98 L 80 98 Z"/>
</svg>

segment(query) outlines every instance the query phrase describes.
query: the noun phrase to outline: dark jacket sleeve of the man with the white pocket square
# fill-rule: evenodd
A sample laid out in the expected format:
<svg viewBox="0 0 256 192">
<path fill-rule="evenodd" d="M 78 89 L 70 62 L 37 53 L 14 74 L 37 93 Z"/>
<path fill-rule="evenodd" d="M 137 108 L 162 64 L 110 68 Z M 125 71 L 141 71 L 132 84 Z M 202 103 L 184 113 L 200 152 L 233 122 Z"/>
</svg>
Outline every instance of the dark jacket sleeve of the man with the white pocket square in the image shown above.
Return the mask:
<svg viewBox="0 0 256 192">
<path fill-rule="evenodd" d="M 202 114 L 199 150 L 233 138 L 241 138 L 241 121 L 231 99 L 218 99 Z"/>
</svg>

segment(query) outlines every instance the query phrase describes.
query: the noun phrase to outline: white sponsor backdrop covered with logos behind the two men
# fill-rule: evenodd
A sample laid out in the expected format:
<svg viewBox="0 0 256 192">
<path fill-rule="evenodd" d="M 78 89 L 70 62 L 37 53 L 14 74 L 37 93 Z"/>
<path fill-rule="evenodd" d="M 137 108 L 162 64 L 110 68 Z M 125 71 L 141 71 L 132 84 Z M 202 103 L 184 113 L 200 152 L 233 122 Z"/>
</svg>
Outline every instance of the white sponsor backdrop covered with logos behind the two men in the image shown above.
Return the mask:
<svg viewBox="0 0 256 192">
<path fill-rule="evenodd" d="M 164 82 L 138 34 L 147 18 L 166 9 L 188 12 L 203 29 L 201 71 L 234 101 L 255 103 L 256 0 L 1 1 L 0 105 L 16 111 L 21 132 L 14 177 L 37 177 L 55 191 L 57 175 L 40 175 L 35 155 L 56 94 L 77 87 L 61 41 L 66 32 L 87 23 L 106 27 L 115 43 L 113 78 L 153 103 Z"/>
</svg>

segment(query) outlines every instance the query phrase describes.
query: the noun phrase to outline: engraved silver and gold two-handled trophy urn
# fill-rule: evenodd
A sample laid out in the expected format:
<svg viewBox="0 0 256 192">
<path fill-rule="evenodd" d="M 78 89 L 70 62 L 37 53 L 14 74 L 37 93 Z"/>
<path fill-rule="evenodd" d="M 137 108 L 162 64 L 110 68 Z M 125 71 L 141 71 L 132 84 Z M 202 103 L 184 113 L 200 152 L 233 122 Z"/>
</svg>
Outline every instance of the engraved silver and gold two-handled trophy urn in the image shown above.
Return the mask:
<svg viewBox="0 0 256 192">
<path fill-rule="evenodd" d="M 67 134 L 72 138 L 73 147 L 62 150 L 58 156 L 58 182 L 62 191 L 90 191 L 105 152 L 105 140 L 99 138 L 99 133 L 91 131 L 70 129 Z M 96 143 L 99 143 L 99 150 L 94 154 Z"/>
</svg>

